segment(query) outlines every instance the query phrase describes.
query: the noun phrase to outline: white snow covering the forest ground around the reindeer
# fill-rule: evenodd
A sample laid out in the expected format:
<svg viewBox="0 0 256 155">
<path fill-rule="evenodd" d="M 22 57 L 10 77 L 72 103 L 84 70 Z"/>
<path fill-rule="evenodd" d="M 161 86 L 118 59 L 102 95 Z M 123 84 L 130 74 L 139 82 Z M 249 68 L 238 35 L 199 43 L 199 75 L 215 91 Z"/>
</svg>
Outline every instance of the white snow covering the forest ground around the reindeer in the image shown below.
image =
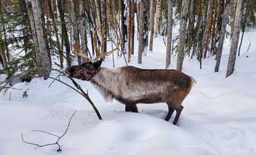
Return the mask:
<svg viewBox="0 0 256 155">
<path fill-rule="evenodd" d="M 196 59 L 185 58 L 184 73 L 193 76 L 197 85 L 183 102 L 184 110 L 178 126 L 163 121 L 166 104 L 139 105 L 139 113 L 123 112 L 117 101 L 105 103 L 89 82 L 78 83 L 89 95 L 102 114 L 99 121 L 90 104 L 72 89 L 51 79 L 33 79 L 20 83 L 0 98 L 0 154 L 256 154 L 256 31 L 245 33 L 242 55 L 237 58 L 236 70 L 225 78 L 229 40 L 224 46 L 219 73 L 214 73 L 214 58 L 203 60 L 199 69 Z M 251 43 L 247 53 L 248 44 Z M 137 47 L 137 43 L 135 45 Z M 172 58 L 170 68 L 175 68 Z M 154 42 L 154 52 L 143 56 L 143 64 L 136 64 L 136 55 L 130 65 L 144 68 L 165 66 L 165 46 L 162 38 Z M 112 67 L 111 56 L 102 66 Z M 123 66 L 123 57 L 115 58 L 115 67 Z M 51 76 L 56 76 L 52 74 Z M 4 76 L 1 76 L 3 79 Z M 63 79 L 63 78 L 62 78 Z M 63 79 L 69 82 L 69 79 Z M 71 84 L 71 82 L 69 82 Z M 68 133 L 60 140 L 62 152 L 56 146 L 38 148 L 22 142 L 37 144 L 54 142 L 55 138 L 31 130 L 46 130 L 61 135 L 72 113 Z"/>
</svg>

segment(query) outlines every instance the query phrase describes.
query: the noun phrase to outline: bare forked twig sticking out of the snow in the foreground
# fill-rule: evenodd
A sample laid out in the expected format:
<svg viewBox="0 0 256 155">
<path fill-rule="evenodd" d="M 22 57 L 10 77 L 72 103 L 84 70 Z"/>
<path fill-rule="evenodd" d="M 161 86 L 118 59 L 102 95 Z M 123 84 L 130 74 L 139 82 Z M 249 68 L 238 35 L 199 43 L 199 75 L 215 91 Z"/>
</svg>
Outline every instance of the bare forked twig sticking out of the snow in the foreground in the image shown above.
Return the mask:
<svg viewBox="0 0 256 155">
<path fill-rule="evenodd" d="M 56 142 L 50 143 L 50 144 L 46 144 L 46 145 L 38 145 L 38 144 L 35 144 L 35 143 L 32 143 L 32 142 L 26 141 L 26 140 L 23 138 L 23 133 L 21 133 L 21 139 L 22 139 L 22 141 L 25 142 L 25 143 L 28 144 L 28 145 L 35 145 L 35 146 L 36 146 L 35 149 L 43 148 L 43 147 L 50 146 L 50 145 L 57 145 L 57 146 L 58 146 L 57 152 L 62 151 L 62 150 L 61 150 L 61 147 L 60 147 L 60 145 L 59 145 L 59 140 L 60 140 L 63 136 L 65 136 L 66 133 L 68 132 L 70 123 L 71 123 L 72 118 L 74 117 L 75 113 L 76 113 L 76 111 L 75 111 L 75 112 L 72 114 L 72 116 L 69 118 L 69 124 L 68 124 L 68 126 L 66 127 L 65 132 L 64 132 L 61 136 L 57 136 L 57 135 L 55 135 L 55 134 L 53 134 L 53 133 L 48 133 L 48 132 L 43 131 L 43 130 L 32 130 L 32 131 L 35 131 L 35 132 L 46 133 L 46 134 L 48 134 L 48 135 L 50 135 L 50 136 L 55 136 L 55 137 L 58 138 L 58 139 L 56 140 Z"/>
</svg>

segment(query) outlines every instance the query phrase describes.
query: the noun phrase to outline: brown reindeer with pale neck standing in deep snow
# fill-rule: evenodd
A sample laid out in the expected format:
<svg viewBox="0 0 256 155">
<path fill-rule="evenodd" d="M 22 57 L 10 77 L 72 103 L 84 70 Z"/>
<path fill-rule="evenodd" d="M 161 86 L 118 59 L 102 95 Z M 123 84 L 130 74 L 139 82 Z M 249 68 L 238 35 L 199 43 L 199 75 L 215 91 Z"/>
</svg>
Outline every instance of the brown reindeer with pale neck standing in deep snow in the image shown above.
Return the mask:
<svg viewBox="0 0 256 155">
<path fill-rule="evenodd" d="M 138 103 L 167 103 L 169 110 L 165 120 L 169 121 L 176 111 L 173 124 L 177 124 L 194 78 L 177 70 L 145 70 L 126 66 L 115 69 L 101 67 L 102 59 L 93 62 L 81 51 L 75 55 L 89 60 L 66 69 L 69 76 L 91 82 L 106 101 L 117 100 L 125 105 L 126 112 L 138 112 Z"/>
</svg>

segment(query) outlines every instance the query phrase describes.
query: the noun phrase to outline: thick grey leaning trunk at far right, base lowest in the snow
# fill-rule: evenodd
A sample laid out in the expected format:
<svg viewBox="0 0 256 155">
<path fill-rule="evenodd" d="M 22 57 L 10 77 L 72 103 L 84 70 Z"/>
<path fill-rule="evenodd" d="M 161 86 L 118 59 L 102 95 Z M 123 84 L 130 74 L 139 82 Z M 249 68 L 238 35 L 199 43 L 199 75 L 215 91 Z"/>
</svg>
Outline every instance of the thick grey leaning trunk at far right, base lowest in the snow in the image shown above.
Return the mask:
<svg viewBox="0 0 256 155">
<path fill-rule="evenodd" d="M 231 39 L 230 56 L 227 64 L 226 77 L 230 76 L 235 70 L 236 52 L 237 52 L 237 47 L 239 43 L 241 19 L 242 19 L 242 0 L 237 0 L 236 19 L 234 22 L 233 37 Z"/>
</svg>

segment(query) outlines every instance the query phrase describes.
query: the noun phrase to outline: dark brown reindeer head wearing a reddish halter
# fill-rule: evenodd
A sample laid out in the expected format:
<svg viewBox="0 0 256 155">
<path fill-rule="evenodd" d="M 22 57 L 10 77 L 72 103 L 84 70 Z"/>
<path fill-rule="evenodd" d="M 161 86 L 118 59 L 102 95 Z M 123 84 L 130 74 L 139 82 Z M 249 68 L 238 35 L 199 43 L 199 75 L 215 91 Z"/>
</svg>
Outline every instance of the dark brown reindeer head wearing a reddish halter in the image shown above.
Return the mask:
<svg viewBox="0 0 256 155">
<path fill-rule="evenodd" d="M 72 78 L 89 81 L 97 73 L 101 64 L 102 59 L 94 63 L 86 62 L 81 65 L 75 65 L 67 68 L 66 73 L 68 73 Z"/>
</svg>

